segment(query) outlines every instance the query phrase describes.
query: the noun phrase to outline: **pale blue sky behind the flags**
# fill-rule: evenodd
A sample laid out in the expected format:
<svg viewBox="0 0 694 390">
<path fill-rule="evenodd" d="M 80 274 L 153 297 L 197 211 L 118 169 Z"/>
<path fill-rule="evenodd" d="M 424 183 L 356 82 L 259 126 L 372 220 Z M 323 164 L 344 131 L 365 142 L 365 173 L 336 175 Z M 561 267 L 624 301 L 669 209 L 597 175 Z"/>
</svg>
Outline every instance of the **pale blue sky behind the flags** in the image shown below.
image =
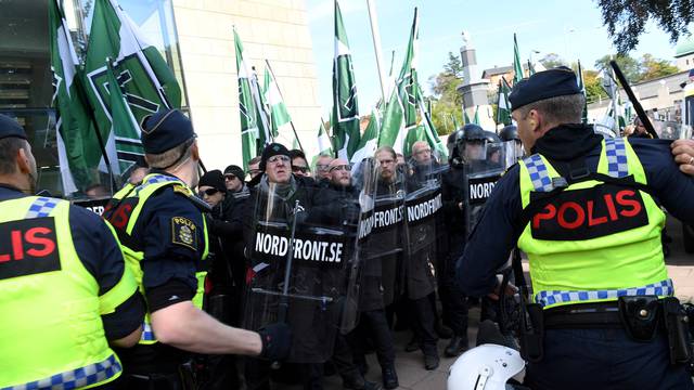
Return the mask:
<svg viewBox="0 0 694 390">
<path fill-rule="evenodd" d="M 593 68 L 595 60 L 615 53 L 601 11 L 591 0 L 373 0 L 376 4 L 384 72 L 388 72 L 395 50 L 394 74 L 400 72 L 414 8 L 420 13 L 417 73 L 425 93 L 429 77 L 442 70 L 448 52 L 460 54 L 463 30 L 470 32 L 477 51 L 478 69 L 513 63 L 513 34 L 516 32 L 522 61 L 537 61 L 549 53 L 581 61 Z M 352 54 L 359 110 L 369 113 L 381 96 L 367 0 L 340 0 L 343 21 Z M 306 0 L 308 23 L 319 79 L 323 115 L 332 107 L 332 64 L 334 54 L 333 0 Z M 539 51 L 540 53 L 535 53 Z M 674 46 L 669 37 L 648 23 L 640 43 L 630 55 L 673 61 Z"/>
</svg>

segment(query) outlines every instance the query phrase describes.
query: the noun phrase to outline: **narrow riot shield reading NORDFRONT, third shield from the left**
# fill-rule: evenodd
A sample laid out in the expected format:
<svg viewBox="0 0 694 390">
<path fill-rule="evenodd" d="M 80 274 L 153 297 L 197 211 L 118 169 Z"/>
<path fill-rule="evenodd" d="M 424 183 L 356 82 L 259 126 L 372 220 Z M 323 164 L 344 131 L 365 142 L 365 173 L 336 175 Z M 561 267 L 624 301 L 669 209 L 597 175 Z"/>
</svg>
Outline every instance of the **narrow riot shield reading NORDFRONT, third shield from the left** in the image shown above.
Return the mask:
<svg viewBox="0 0 694 390">
<path fill-rule="evenodd" d="M 435 160 L 414 161 L 408 178 L 406 213 L 404 282 L 408 297 L 420 299 L 434 291 L 435 264 L 439 256 L 441 174 L 447 167 Z"/>
</svg>

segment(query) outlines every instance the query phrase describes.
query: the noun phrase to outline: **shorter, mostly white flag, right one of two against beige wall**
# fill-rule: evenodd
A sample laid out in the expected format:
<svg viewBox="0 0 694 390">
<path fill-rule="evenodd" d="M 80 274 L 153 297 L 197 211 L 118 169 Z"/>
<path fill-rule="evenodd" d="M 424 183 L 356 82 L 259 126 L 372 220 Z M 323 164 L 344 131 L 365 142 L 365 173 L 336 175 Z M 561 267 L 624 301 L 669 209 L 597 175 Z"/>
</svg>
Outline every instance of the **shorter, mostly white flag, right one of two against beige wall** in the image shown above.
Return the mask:
<svg viewBox="0 0 694 390">
<path fill-rule="evenodd" d="M 272 133 L 275 136 L 275 141 L 284 145 L 292 145 L 293 148 L 298 148 L 300 143 L 294 134 L 294 127 L 292 126 L 292 118 L 286 109 L 280 87 L 274 78 L 274 74 L 270 68 L 270 63 L 266 60 L 265 77 L 262 83 L 262 94 L 265 102 L 268 104 L 270 110 L 270 126 Z"/>
</svg>

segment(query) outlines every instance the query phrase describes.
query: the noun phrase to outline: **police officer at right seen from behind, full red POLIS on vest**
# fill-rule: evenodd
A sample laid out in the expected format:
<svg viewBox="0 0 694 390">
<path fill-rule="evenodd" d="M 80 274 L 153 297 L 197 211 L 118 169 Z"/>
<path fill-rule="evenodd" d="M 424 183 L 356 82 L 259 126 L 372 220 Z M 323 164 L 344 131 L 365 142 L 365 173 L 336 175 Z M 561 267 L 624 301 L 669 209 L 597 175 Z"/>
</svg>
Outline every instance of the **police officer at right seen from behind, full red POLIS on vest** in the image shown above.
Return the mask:
<svg viewBox="0 0 694 390">
<path fill-rule="evenodd" d="M 534 390 L 692 389 L 659 205 L 694 222 L 694 180 L 667 141 L 596 135 L 581 123 L 583 99 L 566 67 L 514 87 L 529 157 L 497 183 L 459 260 L 461 288 L 487 295 L 512 248 L 527 253 L 543 320 L 525 377 Z"/>
</svg>

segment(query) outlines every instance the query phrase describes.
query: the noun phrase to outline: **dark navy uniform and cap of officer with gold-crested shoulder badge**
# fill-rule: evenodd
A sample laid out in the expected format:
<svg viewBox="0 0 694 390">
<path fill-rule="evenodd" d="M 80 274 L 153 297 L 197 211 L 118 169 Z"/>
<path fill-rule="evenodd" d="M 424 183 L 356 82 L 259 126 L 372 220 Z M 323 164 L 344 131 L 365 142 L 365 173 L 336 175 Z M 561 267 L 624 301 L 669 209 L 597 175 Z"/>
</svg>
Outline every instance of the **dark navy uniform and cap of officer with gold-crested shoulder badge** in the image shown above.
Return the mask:
<svg viewBox="0 0 694 390">
<path fill-rule="evenodd" d="M 190 120 L 178 110 L 158 112 L 143 120 L 142 143 L 146 153 L 164 153 L 194 136 Z M 178 180 L 159 169 L 152 169 L 152 174 Z M 132 211 L 134 205 L 131 203 L 139 203 L 139 198 L 114 199 L 104 211 L 104 218 L 114 225 L 121 245 L 143 253 L 140 268 L 150 313 L 192 300 L 197 291 L 195 273 L 205 268 L 203 203 L 176 188 L 182 185 L 182 182 L 166 185 L 150 196 L 137 217 L 132 234 L 126 232 L 131 217 L 128 210 Z M 132 191 L 137 193 L 139 187 Z M 181 236 L 182 221 L 188 224 L 185 232 L 192 231 L 191 236 Z M 189 359 L 188 352 L 162 342 L 140 343 L 119 350 L 118 354 L 125 368 L 123 389 L 176 388 L 180 386 L 180 366 Z"/>
</svg>

